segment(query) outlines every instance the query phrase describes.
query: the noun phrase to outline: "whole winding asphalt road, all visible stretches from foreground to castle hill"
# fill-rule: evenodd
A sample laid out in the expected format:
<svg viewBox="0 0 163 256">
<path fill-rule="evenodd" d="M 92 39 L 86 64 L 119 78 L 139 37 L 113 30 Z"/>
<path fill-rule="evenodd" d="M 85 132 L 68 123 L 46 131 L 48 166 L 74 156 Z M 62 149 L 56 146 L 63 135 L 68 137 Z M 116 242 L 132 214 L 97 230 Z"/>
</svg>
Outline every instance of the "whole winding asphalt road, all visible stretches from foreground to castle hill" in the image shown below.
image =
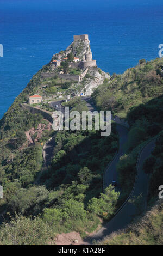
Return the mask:
<svg viewBox="0 0 163 256">
<path fill-rule="evenodd" d="M 93 103 L 87 102 L 87 100 L 89 100 L 89 96 L 85 97 L 83 100 L 86 100 L 86 105 L 90 111 L 95 111 L 95 106 L 93 105 Z M 58 102 L 58 105 L 60 105 L 60 102 Z M 111 119 L 114 119 L 114 117 L 111 116 Z M 114 120 L 116 122 L 116 119 Z M 128 129 L 126 127 L 119 125 L 119 123 L 120 120 L 118 120 L 118 124 L 116 125 L 116 130 L 119 135 L 119 149 L 114 160 L 111 162 L 108 169 L 106 169 L 104 180 L 105 187 L 107 187 L 112 182 L 112 180 L 118 180 L 116 165 L 120 160 L 120 157 L 124 155 L 126 151 L 125 144 L 128 138 Z M 151 154 L 154 147 L 155 141 L 149 142 L 146 145 L 146 147 L 141 151 L 139 163 L 137 164 L 137 179 L 131 199 L 134 199 L 140 195 L 142 196 L 140 202 L 141 209 L 139 209 L 141 210 L 141 212 L 146 210 L 146 196 L 148 186 L 148 175 L 146 175 L 143 172 L 142 166 L 143 162 Z M 132 200 L 128 200 L 128 202 L 123 206 L 123 208 L 120 211 L 118 211 L 118 213 L 104 227 L 102 227 L 95 235 L 87 237 L 85 239 L 85 244 L 90 244 L 93 240 L 102 240 L 104 239 L 104 237 L 110 235 L 112 232 L 127 227 L 127 225 L 131 223 L 134 216 L 137 214 L 138 210 L 136 204 L 134 202 L 131 202 Z"/>
</svg>

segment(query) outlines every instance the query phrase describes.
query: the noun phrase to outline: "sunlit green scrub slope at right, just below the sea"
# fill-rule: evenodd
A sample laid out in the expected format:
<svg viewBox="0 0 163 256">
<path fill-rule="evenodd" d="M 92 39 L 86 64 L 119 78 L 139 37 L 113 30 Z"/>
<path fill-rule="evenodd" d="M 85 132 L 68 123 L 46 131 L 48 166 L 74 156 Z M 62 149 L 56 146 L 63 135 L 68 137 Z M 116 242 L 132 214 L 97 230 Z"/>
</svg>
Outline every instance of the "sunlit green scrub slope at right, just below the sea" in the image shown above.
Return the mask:
<svg viewBox="0 0 163 256">
<path fill-rule="evenodd" d="M 141 60 L 139 65 L 122 75 L 114 74 L 110 82 L 95 89 L 93 96 L 97 107 L 110 109 L 113 114 L 126 118 L 131 107 L 147 103 L 162 94 L 162 66 L 163 60 L 159 58 L 147 63 Z"/>
</svg>

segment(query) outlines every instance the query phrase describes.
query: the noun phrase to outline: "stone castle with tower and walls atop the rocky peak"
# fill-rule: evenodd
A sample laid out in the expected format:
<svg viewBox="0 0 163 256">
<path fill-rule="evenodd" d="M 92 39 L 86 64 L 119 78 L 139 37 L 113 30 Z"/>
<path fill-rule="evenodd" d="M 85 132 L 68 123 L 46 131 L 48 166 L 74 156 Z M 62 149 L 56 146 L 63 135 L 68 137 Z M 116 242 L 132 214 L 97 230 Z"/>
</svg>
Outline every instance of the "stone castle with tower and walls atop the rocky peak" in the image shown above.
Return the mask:
<svg viewBox="0 0 163 256">
<path fill-rule="evenodd" d="M 74 35 L 73 36 L 73 43 L 70 45 L 72 46 L 73 44 L 79 45 L 80 42 L 85 43 L 86 45 L 89 45 L 90 41 L 89 41 L 89 35 L 85 34 L 85 35 Z M 70 47 L 69 46 L 69 47 Z M 67 48 L 68 49 L 68 48 Z M 66 49 L 66 55 L 68 55 L 68 53 L 71 52 L 71 49 Z M 63 60 L 65 60 L 67 58 L 64 59 L 55 59 L 52 60 L 51 64 L 58 67 L 60 66 L 61 62 Z M 76 56 L 76 59 L 78 59 L 77 62 L 70 62 L 69 65 L 72 68 L 80 68 L 83 70 L 83 73 L 78 76 L 78 75 L 70 75 L 70 74 L 58 74 L 59 77 L 67 79 L 67 80 L 74 80 L 74 81 L 82 81 L 83 77 L 86 75 L 87 70 L 89 67 L 96 67 L 96 60 L 92 59 L 92 52 L 90 49 L 90 45 L 87 49 L 87 51 L 85 52 L 85 54 L 83 54 L 83 56 L 81 58 L 79 58 L 79 56 Z M 41 77 L 42 78 L 47 78 L 47 77 L 54 77 L 56 75 L 56 73 L 41 73 Z"/>
</svg>

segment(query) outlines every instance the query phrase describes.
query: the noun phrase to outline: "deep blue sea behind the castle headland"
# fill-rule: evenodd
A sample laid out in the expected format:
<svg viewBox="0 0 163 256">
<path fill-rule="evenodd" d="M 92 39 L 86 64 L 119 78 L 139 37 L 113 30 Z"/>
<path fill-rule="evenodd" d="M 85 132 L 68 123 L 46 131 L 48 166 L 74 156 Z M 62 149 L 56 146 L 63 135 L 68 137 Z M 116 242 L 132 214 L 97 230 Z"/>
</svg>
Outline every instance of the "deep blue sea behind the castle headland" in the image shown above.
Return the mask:
<svg viewBox="0 0 163 256">
<path fill-rule="evenodd" d="M 0 118 L 73 34 L 89 34 L 93 58 L 110 74 L 158 57 L 162 14 L 162 0 L 0 0 Z"/>
</svg>

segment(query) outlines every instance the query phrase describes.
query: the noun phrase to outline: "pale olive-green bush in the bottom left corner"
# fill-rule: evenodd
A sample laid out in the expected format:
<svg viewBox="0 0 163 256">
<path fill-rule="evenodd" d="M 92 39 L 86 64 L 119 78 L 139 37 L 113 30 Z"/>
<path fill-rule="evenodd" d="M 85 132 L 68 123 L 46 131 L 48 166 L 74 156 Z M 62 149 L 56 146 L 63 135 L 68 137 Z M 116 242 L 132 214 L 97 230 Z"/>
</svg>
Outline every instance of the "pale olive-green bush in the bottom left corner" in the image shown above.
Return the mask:
<svg viewBox="0 0 163 256">
<path fill-rule="evenodd" d="M 0 245 L 47 245 L 54 236 L 52 228 L 41 218 L 16 215 L 0 228 Z"/>
</svg>

